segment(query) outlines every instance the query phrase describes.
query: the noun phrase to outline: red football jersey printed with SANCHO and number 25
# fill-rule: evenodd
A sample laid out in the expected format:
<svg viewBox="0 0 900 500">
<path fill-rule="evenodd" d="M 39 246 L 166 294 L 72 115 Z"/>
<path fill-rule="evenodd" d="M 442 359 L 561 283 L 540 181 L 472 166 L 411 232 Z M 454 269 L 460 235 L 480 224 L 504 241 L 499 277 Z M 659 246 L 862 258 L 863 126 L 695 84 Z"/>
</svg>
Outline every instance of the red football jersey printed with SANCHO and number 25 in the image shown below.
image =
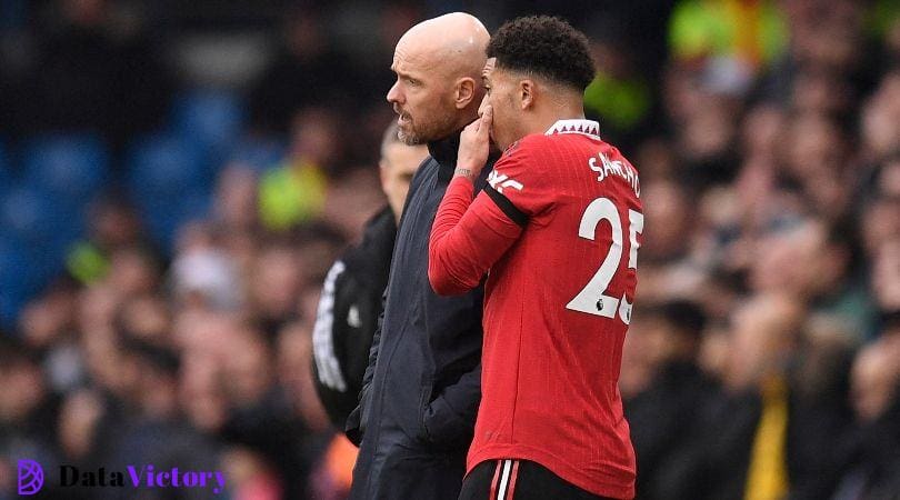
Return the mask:
<svg viewBox="0 0 900 500">
<path fill-rule="evenodd" d="M 632 498 L 618 379 L 643 216 L 637 170 L 597 129 L 561 120 L 527 136 L 474 201 L 471 182 L 453 179 L 432 229 L 429 278 L 452 293 L 489 270 L 468 470 L 532 460 L 592 493 Z"/>
</svg>

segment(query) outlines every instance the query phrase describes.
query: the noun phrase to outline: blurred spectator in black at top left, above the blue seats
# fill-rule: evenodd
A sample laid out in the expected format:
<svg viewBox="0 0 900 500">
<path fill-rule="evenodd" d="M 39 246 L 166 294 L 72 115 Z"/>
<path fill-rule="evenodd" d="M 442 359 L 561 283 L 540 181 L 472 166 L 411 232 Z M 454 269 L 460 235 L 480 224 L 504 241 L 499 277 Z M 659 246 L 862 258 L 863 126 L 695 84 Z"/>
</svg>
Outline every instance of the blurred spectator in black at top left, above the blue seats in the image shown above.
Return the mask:
<svg viewBox="0 0 900 500">
<path fill-rule="evenodd" d="M 138 24 L 117 19 L 107 0 L 56 0 L 61 23 L 42 38 L 18 106 L 30 132 L 90 131 L 124 146 L 163 118 L 169 72 Z"/>
</svg>

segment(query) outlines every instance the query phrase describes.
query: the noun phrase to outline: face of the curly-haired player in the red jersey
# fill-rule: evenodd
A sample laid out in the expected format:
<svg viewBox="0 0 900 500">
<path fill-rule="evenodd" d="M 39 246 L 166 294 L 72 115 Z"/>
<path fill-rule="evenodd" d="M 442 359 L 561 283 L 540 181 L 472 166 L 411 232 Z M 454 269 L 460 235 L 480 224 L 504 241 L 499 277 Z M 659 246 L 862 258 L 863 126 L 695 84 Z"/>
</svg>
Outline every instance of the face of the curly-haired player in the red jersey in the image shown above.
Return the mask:
<svg viewBox="0 0 900 500">
<path fill-rule="evenodd" d="M 519 81 L 510 72 L 497 69 L 496 63 L 497 58 L 488 59 L 481 71 L 484 99 L 481 100 L 478 114 L 481 116 L 488 104 L 493 108 L 491 139 L 500 150 L 504 150 L 521 138 L 518 132 L 521 108 L 517 106 Z"/>
</svg>

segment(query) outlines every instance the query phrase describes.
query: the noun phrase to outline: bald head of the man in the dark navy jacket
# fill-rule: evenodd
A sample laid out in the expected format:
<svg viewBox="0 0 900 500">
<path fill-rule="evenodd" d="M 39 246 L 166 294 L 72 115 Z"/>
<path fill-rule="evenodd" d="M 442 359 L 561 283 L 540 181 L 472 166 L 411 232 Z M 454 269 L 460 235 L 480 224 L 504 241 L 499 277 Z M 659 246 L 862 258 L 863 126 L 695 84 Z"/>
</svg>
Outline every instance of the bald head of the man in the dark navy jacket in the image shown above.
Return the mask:
<svg viewBox="0 0 900 500">
<path fill-rule="evenodd" d="M 489 40 L 481 21 L 462 12 L 422 21 L 400 38 L 388 102 L 400 117 L 401 141 L 411 146 L 443 139 L 476 118 Z"/>
</svg>

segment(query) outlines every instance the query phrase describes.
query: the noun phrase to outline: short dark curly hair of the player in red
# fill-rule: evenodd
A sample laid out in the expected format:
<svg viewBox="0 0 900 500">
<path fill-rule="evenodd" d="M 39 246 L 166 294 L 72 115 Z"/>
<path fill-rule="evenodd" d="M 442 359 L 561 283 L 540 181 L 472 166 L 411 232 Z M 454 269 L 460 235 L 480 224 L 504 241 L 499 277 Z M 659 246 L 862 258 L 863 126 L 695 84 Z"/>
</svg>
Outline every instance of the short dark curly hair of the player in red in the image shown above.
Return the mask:
<svg viewBox="0 0 900 500">
<path fill-rule="evenodd" d="M 531 73 L 583 92 L 596 69 L 588 38 L 562 19 L 529 16 L 507 21 L 488 43 L 497 68 Z"/>
</svg>

